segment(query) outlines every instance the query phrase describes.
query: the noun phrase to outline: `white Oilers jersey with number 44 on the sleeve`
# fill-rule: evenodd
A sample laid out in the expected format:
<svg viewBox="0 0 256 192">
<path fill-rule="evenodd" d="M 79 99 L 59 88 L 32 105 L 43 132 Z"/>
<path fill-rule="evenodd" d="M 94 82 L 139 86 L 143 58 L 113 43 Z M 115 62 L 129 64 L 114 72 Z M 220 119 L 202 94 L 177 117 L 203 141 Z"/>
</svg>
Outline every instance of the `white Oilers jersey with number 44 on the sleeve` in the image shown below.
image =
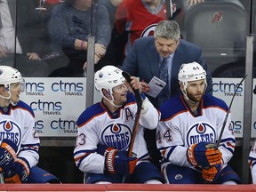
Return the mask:
<svg viewBox="0 0 256 192">
<path fill-rule="evenodd" d="M 156 128 L 156 145 L 164 156 L 164 162 L 188 166 L 187 149 L 199 142 L 216 143 L 228 106 L 223 100 L 205 94 L 197 108 L 197 115 L 188 107 L 183 96 L 167 100 L 160 108 L 161 120 Z M 233 135 L 231 114 L 220 140 L 220 151 L 225 167 L 234 154 L 236 140 Z"/>
</svg>

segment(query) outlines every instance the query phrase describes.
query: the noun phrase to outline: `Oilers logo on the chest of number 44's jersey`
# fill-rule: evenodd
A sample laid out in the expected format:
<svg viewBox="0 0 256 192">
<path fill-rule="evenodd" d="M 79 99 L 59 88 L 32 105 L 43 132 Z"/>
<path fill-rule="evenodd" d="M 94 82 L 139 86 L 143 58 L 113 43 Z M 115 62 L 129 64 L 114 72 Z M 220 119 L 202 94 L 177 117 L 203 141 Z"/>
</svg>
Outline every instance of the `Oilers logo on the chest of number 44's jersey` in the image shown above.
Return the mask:
<svg viewBox="0 0 256 192">
<path fill-rule="evenodd" d="M 216 132 L 211 124 L 197 123 L 188 128 L 187 144 L 188 146 L 199 142 L 211 142 L 216 140 Z"/>
</svg>

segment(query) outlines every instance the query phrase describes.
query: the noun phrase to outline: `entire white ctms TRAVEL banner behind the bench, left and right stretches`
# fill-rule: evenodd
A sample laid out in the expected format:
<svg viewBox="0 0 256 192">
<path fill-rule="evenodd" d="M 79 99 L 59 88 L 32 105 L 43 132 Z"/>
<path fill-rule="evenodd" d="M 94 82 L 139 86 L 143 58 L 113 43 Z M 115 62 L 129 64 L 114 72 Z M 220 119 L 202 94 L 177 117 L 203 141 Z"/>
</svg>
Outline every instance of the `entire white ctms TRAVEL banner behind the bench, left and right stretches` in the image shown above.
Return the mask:
<svg viewBox="0 0 256 192">
<path fill-rule="evenodd" d="M 213 78 L 213 95 L 229 106 L 241 78 Z M 25 78 L 25 91 L 20 99 L 35 112 L 36 129 L 40 137 L 75 137 L 76 120 L 86 106 L 86 78 Z M 253 85 L 254 87 L 254 85 Z M 255 100 L 253 94 L 252 100 Z M 100 93 L 94 90 L 94 103 Z M 244 83 L 237 89 L 231 106 L 236 138 L 243 137 Z M 256 137 L 256 107 L 252 108 L 252 137 Z"/>
</svg>

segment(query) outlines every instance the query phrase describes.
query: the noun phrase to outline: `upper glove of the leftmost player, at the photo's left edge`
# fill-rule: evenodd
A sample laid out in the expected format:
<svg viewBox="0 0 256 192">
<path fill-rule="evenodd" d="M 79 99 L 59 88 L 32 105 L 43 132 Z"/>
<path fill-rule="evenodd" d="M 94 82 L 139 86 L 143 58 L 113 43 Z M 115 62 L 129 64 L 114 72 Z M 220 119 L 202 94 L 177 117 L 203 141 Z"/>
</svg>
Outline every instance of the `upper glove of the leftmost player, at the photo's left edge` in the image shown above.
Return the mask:
<svg viewBox="0 0 256 192">
<path fill-rule="evenodd" d="M 3 172 L 12 167 L 15 161 L 18 147 L 11 140 L 2 140 L 0 146 L 0 172 Z"/>
</svg>

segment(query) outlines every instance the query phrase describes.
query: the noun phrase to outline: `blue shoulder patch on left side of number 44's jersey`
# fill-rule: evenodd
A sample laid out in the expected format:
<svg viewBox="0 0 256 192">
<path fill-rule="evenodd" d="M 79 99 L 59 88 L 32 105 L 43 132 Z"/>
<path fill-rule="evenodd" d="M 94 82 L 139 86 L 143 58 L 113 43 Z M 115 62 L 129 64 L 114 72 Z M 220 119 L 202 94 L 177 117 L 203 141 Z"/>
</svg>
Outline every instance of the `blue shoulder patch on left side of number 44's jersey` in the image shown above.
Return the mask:
<svg viewBox="0 0 256 192">
<path fill-rule="evenodd" d="M 180 95 L 174 96 L 163 103 L 160 107 L 161 121 L 172 118 L 172 116 L 179 114 L 180 111 L 187 110 L 180 97 Z"/>
</svg>

